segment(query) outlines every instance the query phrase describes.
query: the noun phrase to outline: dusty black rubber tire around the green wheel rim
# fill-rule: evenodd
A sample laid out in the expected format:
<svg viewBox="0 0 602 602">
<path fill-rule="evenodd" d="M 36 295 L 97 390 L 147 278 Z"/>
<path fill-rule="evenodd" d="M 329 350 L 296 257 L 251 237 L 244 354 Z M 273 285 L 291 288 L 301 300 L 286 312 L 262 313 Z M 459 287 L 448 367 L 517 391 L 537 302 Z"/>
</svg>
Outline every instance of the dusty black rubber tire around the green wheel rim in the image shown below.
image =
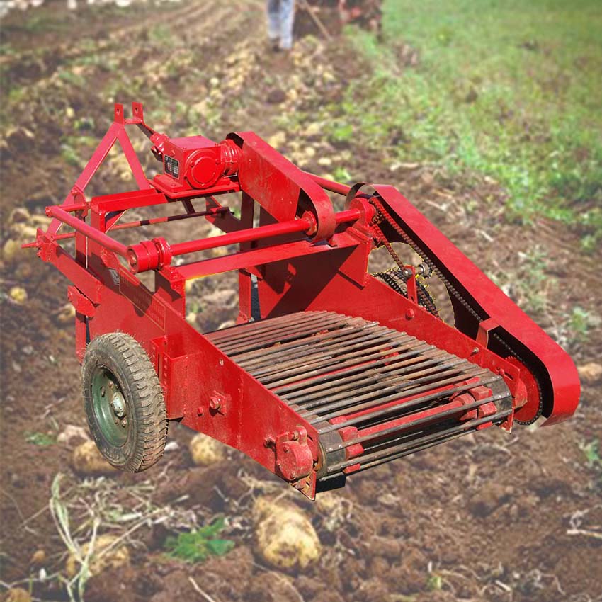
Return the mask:
<svg viewBox="0 0 602 602">
<path fill-rule="evenodd" d="M 129 419 L 127 441 L 115 446 L 103 436 L 93 407 L 92 382 L 98 368 L 110 370 L 118 381 Z M 142 472 L 163 455 L 167 413 L 159 378 L 140 343 L 123 332 L 97 336 L 81 365 L 84 407 L 91 435 L 106 460 L 125 472 Z"/>
</svg>

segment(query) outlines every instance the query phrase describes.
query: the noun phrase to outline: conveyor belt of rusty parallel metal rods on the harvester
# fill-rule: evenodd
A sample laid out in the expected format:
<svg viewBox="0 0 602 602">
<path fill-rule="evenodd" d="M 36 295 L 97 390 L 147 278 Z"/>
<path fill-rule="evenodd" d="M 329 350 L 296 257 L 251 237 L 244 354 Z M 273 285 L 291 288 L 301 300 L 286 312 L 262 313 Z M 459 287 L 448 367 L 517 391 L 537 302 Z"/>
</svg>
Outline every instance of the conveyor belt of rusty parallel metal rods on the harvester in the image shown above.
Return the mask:
<svg viewBox="0 0 602 602">
<path fill-rule="evenodd" d="M 322 479 L 501 424 L 512 412 L 499 375 L 358 317 L 300 312 L 207 336 L 317 428 Z"/>
</svg>

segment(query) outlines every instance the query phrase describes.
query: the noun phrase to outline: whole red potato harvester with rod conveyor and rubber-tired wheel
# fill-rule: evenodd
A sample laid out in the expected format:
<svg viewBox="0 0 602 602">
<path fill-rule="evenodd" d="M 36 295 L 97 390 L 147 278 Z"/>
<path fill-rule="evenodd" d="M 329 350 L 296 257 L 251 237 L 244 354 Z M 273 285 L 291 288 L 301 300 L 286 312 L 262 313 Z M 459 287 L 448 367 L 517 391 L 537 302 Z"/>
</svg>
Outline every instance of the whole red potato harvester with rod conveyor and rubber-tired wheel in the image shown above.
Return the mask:
<svg viewBox="0 0 602 602">
<path fill-rule="evenodd" d="M 129 125 L 161 161 L 152 179 Z M 139 189 L 86 198 L 116 141 Z M 225 203 L 233 196 L 236 208 Z M 122 219 L 167 204 L 181 212 Z M 173 420 L 314 499 L 348 475 L 467 433 L 510 431 L 541 414 L 558 423 L 579 402 L 567 353 L 399 191 L 309 174 L 252 132 L 217 144 L 169 138 L 144 122 L 140 103 L 131 118 L 117 104 L 64 203 L 46 212 L 52 222 L 28 246 L 73 283 L 89 427 L 123 470 L 152 466 Z M 110 235 L 187 219 L 224 234 L 129 246 Z M 407 247 L 393 243 L 421 263 L 404 263 Z M 382 246 L 394 267 L 372 274 L 370 252 Z M 186 322 L 186 281 L 227 271 L 238 272 L 237 323 L 200 333 Z M 454 326 L 426 288 L 433 275 Z"/>
</svg>

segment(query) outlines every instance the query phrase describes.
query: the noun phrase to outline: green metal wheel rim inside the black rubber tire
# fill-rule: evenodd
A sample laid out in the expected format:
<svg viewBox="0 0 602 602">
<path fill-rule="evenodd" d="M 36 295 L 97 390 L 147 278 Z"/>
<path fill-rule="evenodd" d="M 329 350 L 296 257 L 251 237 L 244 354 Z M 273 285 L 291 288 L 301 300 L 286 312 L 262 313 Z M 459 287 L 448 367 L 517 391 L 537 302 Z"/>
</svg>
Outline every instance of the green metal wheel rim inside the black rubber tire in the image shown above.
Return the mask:
<svg viewBox="0 0 602 602">
<path fill-rule="evenodd" d="M 92 379 L 94 415 L 103 436 L 110 445 L 120 447 L 130 433 L 130 419 L 123 391 L 115 375 L 107 368 L 98 368 Z"/>
</svg>

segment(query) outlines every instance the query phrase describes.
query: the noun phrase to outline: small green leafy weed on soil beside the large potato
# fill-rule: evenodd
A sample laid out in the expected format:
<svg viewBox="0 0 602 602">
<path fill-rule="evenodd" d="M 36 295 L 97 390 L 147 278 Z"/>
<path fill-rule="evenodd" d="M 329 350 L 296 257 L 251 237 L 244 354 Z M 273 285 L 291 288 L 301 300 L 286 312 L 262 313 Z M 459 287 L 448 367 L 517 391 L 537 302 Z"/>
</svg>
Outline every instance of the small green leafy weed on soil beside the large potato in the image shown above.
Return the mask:
<svg viewBox="0 0 602 602">
<path fill-rule="evenodd" d="M 232 540 L 216 537 L 224 528 L 224 519 L 217 518 L 210 525 L 195 531 L 170 535 L 165 540 L 164 548 L 169 557 L 191 563 L 203 562 L 210 556 L 224 556 L 234 547 Z"/>
</svg>

